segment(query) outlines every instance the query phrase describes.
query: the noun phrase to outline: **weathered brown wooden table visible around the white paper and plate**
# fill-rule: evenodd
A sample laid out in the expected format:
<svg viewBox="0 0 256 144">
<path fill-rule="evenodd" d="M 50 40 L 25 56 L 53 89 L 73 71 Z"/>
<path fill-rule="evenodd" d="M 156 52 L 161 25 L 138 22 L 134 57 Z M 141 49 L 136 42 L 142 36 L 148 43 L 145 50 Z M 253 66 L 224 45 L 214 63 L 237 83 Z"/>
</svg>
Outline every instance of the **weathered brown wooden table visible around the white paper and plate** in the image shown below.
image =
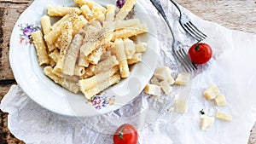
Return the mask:
<svg viewBox="0 0 256 144">
<path fill-rule="evenodd" d="M 33 0 L 0 0 L 0 100 L 15 83 L 9 66 L 9 38 L 15 21 Z M 255 0 L 177 0 L 186 9 L 204 20 L 217 22 L 230 29 L 256 34 Z M 24 143 L 15 138 L 7 128 L 7 113 L 0 112 L 0 143 Z M 256 143 L 256 124 L 249 139 Z"/>
</svg>

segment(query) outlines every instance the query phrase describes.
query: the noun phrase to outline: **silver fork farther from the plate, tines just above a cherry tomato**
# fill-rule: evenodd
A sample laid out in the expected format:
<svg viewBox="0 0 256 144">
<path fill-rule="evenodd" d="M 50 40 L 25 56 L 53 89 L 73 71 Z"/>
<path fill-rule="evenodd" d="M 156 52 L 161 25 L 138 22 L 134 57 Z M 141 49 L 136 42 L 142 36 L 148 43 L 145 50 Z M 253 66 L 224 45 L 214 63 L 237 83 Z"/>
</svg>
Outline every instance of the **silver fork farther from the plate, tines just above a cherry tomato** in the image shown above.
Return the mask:
<svg viewBox="0 0 256 144">
<path fill-rule="evenodd" d="M 201 41 L 207 38 L 207 35 L 201 32 L 192 22 L 186 14 L 183 14 L 181 9 L 178 7 L 174 0 L 170 0 L 179 12 L 179 23 L 183 29 L 189 33 L 190 36 L 194 37 L 197 41 Z"/>
</svg>

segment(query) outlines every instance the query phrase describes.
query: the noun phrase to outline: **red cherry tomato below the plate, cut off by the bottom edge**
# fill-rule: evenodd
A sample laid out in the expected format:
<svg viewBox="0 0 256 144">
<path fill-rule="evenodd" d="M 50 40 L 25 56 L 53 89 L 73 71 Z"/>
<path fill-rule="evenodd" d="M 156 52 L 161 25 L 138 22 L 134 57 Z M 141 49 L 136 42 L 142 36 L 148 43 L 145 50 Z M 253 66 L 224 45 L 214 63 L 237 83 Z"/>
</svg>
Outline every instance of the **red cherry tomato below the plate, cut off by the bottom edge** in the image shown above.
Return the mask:
<svg viewBox="0 0 256 144">
<path fill-rule="evenodd" d="M 122 124 L 113 135 L 114 144 L 137 144 L 137 130 L 131 124 Z"/>
</svg>

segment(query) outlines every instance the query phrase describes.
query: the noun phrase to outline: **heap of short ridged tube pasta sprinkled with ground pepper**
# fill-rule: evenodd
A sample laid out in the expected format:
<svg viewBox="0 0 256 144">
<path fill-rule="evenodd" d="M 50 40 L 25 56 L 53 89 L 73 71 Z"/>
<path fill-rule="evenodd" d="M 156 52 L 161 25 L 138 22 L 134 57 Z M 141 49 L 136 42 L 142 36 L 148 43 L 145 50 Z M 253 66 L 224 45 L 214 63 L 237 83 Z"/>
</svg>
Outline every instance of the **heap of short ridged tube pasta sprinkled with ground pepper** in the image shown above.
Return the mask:
<svg viewBox="0 0 256 144">
<path fill-rule="evenodd" d="M 74 3 L 79 6 L 49 5 L 41 18 L 42 32 L 33 32 L 32 39 L 44 74 L 90 99 L 129 77 L 130 66 L 147 50 L 147 43 L 131 37 L 148 32 L 148 27 L 137 18 L 127 19 L 136 0 L 126 0 L 122 9 L 91 0 Z"/>
</svg>

